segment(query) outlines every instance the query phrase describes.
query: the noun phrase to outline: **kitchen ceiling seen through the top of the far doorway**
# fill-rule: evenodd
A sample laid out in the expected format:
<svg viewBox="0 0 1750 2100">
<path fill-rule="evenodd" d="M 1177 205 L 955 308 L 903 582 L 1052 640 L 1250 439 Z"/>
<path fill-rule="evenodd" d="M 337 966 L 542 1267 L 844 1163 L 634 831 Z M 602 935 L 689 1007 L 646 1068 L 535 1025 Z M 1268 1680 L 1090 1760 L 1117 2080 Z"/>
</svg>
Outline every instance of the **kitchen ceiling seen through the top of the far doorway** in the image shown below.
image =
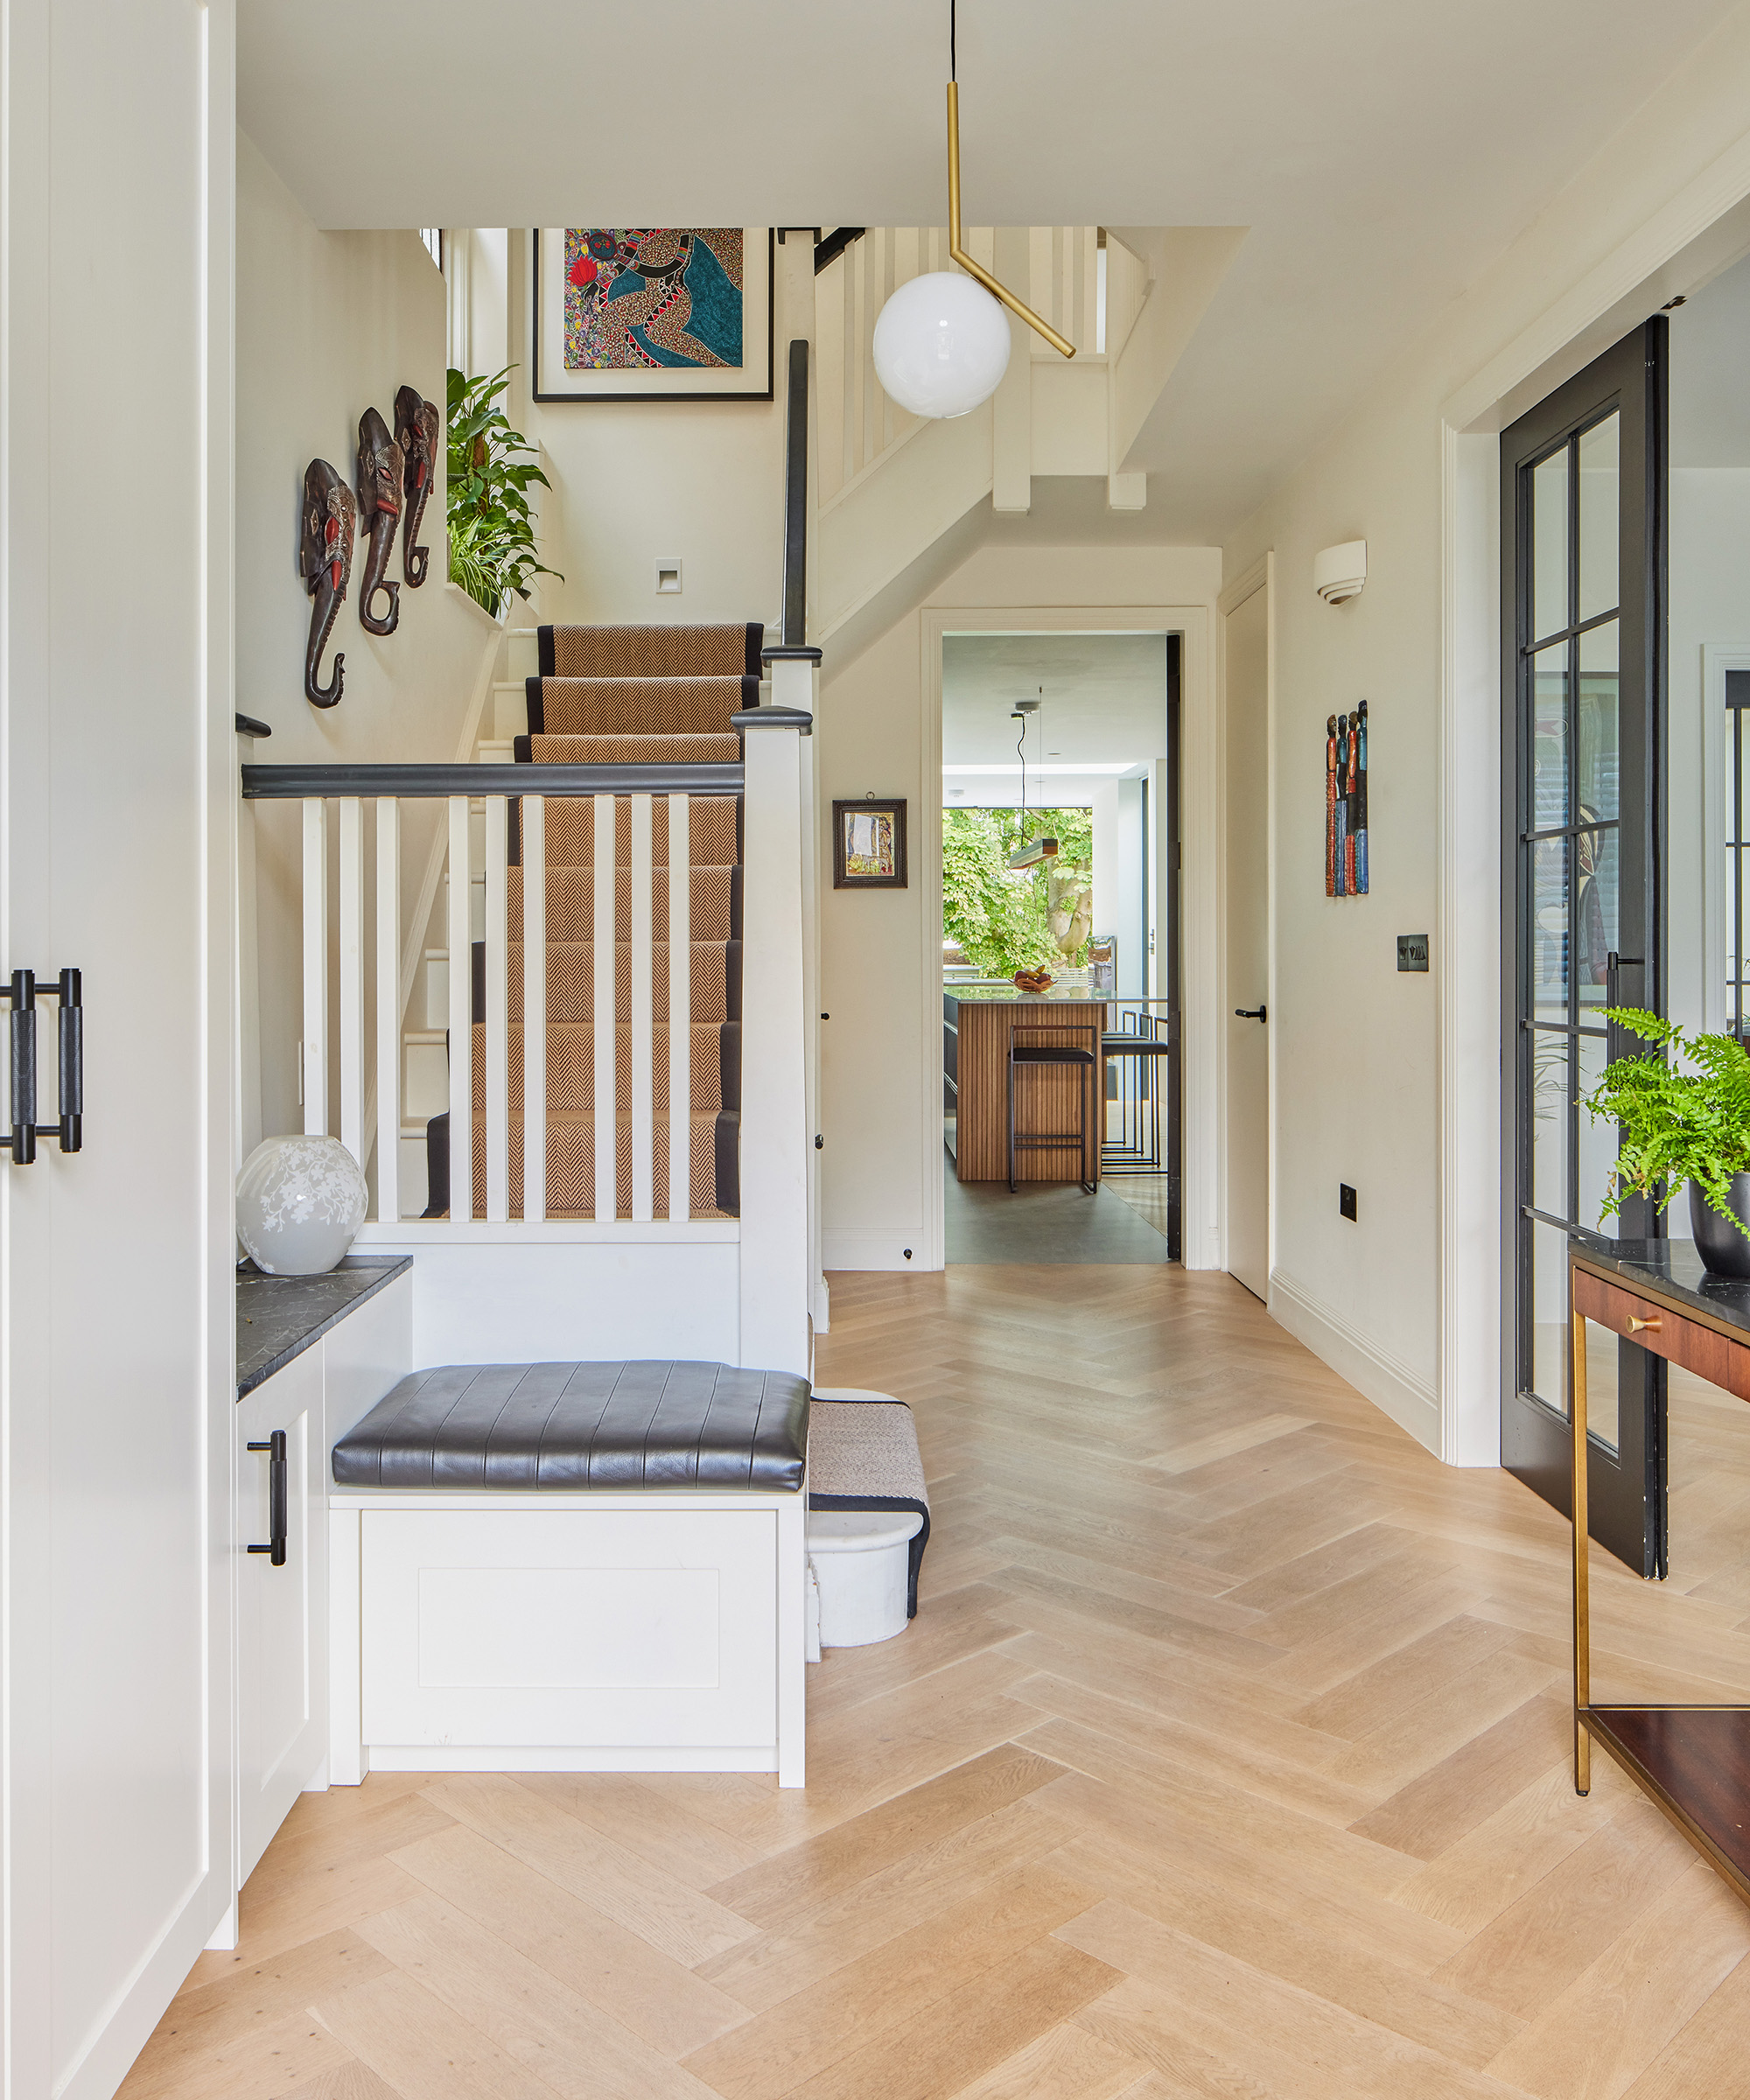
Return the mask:
<svg viewBox="0 0 1750 2100">
<path fill-rule="evenodd" d="M 1017 699 L 1044 704 L 1027 724 L 1027 800 L 1057 781 L 1036 764 L 1143 764 L 1166 750 L 1164 634 L 947 634 L 941 643 L 943 766 L 1013 766 Z M 952 785 L 952 777 L 950 777 Z M 962 779 L 971 785 L 971 779 Z M 1019 781 L 1015 783 L 1019 792 Z M 975 800 L 968 796 L 968 800 Z"/>
</svg>

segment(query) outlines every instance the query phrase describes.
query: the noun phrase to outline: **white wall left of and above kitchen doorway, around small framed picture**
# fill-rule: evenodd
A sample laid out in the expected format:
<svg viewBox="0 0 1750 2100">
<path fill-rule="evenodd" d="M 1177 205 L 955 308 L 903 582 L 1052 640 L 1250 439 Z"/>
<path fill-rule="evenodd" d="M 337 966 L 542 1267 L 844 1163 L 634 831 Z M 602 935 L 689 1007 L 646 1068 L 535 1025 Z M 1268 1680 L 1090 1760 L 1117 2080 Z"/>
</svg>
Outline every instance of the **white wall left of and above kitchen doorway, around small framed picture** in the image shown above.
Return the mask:
<svg viewBox="0 0 1750 2100">
<path fill-rule="evenodd" d="M 819 802 L 903 794 L 939 800 L 939 750 L 924 748 L 924 611 L 933 607 L 1212 607 L 1221 556 L 1172 546 L 983 546 L 821 689 Z M 1019 626 L 1021 622 L 1017 622 Z M 1053 794 L 1057 790 L 1050 790 Z M 910 825 L 905 890 L 834 890 L 821 874 L 821 1239 L 828 1268 L 916 1268 L 924 1260 L 941 1102 L 926 1100 L 924 1025 L 941 1002 L 924 956 L 941 951 L 937 886 Z M 926 1016 L 924 1002 L 931 1000 Z M 905 1260 L 912 1247 L 912 1260 Z"/>
</svg>

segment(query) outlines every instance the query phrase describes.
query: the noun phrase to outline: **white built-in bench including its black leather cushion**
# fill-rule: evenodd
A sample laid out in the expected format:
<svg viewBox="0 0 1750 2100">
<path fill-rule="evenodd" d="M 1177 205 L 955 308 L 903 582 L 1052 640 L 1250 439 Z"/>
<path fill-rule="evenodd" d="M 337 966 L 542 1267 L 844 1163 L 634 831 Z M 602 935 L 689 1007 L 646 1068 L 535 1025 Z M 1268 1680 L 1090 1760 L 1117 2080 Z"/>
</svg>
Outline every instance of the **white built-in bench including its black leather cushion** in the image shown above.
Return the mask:
<svg viewBox="0 0 1750 2100">
<path fill-rule="evenodd" d="M 447 1365 L 334 1445 L 330 1774 L 800 1787 L 809 1386 Z"/>
</svg>

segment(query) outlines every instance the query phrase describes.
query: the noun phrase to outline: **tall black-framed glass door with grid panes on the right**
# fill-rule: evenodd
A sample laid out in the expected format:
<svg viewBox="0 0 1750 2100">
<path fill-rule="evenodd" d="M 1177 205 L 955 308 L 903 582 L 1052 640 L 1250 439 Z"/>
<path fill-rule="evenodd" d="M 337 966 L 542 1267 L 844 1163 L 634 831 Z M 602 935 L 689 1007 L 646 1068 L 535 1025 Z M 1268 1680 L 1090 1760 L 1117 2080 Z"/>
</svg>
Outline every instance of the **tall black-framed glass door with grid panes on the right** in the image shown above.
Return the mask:
<svg viewBox="0 0 1750 2100">
<path fill-rule="evenodd" d="M 1502 433 L 1502 1464 L 1569 1506 L 1567 1231 L 1599 1231 L 1618 1134 L 1580 1107 L 1664 1012 L 1666 321 Z M 1662 1231 L 1624 1205 L 1616 1237 Z M 1590 1327 L 1588 1508 L 1666 1558 L 1664 1363 Z"/>
</svg>

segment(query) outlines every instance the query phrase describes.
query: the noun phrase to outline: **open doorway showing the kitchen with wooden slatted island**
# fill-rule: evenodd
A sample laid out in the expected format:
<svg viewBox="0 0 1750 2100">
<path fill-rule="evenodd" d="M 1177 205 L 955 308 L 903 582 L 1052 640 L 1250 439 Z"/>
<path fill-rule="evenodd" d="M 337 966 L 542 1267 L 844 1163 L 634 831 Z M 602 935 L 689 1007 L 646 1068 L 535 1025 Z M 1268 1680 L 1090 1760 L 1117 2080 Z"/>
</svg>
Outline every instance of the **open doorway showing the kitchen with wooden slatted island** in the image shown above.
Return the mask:
<svg viewBox="0 0 1750 2100">
<path fill-rule="evenodd" d="M 941 640 L 950 1262 L 1179 1258 L 1181 640 Z"/>
</svg>

